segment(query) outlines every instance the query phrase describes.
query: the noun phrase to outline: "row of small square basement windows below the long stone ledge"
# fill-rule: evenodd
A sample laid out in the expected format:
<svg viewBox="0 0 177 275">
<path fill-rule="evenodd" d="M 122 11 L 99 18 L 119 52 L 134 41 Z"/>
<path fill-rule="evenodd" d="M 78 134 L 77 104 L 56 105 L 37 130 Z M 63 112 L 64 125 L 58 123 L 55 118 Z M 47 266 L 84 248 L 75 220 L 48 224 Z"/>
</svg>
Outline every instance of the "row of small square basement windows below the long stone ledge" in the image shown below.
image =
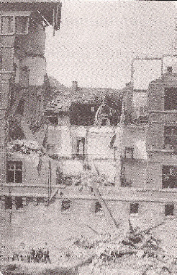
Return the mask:
<svg viewBox="0 0 177 275">
<path fill-rule="evenodd" d="M 22 197 L 15 198 L 15 207 L 16 210 L 23 208 L 23 199 Z M 62 201 L 61 202 L 61 212 L 70 213 L 71 202 L 70 201 Z M 5 209 L 12 209 L 12 197 L 5 197 Z M 130 203 L 130 214 L 137 214 L 139 210 L 139 203 Z M 95 214 L 103 213 L 103 209 L 99 202 L 95 202 Z M 174 215 L 174 205 L 173 204 L 165 204 L 165 216 L 173 216 Z"/>
</svg>

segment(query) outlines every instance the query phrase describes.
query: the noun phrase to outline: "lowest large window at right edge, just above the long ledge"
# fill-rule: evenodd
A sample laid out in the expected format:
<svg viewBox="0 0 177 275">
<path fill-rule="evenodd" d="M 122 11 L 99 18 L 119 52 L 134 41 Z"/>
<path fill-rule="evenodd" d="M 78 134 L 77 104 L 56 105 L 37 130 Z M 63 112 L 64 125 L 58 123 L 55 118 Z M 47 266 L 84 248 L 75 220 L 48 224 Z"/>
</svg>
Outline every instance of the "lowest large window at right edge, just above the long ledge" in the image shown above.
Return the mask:
<svg viewBox="0 0 177 275">
<path fill-rule="evenodd" d="M 177 166 L 162 167 L 162 188 L 177 188 Z"/>
</svg>

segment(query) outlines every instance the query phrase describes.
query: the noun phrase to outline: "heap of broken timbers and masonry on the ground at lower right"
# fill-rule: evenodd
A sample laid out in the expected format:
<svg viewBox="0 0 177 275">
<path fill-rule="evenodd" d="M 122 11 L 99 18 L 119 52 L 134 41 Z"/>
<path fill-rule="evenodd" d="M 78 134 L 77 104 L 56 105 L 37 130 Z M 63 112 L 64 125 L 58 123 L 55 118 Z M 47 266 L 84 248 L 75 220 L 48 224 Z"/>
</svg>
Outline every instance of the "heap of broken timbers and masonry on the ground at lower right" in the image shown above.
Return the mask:
<svg viewBox="0 0 177 275">
<path fill-rule="evenodd" d="M 160 224 L 159 224 L 160 225 Z M 151 228 L 150 228 L 151 229 Z M 131 233 L 133 232 L 133 233 Z M 104 274 L 106 268 L 137 270 L 142 275 L 175 274 L 177 258 L 160 245 L 149 229 L 126 231 L 123 236 L 102 234 L 96 238 L 76 239 L 73 245 L 95 252 L 89 268 L 91 274 Z M 76 256 L 76 254 L 75 254 Z M 71 258 L 71 257 L 70 257 Z M 174 272 L 174 273 L 173 273 Z"/>
</svg>

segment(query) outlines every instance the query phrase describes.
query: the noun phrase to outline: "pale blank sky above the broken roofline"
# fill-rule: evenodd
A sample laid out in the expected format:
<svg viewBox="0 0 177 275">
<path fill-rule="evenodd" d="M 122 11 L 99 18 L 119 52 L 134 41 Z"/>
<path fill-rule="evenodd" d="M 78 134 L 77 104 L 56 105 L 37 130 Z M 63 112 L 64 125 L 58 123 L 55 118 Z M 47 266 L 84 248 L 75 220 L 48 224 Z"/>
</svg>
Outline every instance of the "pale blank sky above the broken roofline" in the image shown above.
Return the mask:
<svg viewBox="0 0 177 275">
<path fill-rule="evenodd" d="M 47 73 L 65 86 L 122 88 L 136 56 L 167 53 L 177 1 L 62 1 L 60 31 L 46 28 Z"/>
</svg>

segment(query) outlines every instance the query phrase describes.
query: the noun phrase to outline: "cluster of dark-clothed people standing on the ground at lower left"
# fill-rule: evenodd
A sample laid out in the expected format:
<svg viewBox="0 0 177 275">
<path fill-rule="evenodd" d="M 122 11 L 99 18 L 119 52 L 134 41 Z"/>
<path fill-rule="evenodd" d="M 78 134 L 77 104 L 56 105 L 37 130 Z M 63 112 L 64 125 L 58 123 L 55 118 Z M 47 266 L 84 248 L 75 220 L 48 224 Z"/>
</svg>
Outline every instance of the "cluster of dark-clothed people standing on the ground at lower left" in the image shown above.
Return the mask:
<svg viewBox="0 0 177 275">
<path fill-rule="evenodd" d="M 32 247 L 30 248 L 30 253 L 27 255 L 27 261 L 28 263 L 34 261 L 34 263 L 40 263 L 40 262 L 45 262 L 47 261 L 51 263 L 50 258 L 49 258 L 49 247 L 47 246 L 47 242 L 45 242 L 45 247 L 42 249 L 39 247 L 36 251 Z"/>
</svg>

